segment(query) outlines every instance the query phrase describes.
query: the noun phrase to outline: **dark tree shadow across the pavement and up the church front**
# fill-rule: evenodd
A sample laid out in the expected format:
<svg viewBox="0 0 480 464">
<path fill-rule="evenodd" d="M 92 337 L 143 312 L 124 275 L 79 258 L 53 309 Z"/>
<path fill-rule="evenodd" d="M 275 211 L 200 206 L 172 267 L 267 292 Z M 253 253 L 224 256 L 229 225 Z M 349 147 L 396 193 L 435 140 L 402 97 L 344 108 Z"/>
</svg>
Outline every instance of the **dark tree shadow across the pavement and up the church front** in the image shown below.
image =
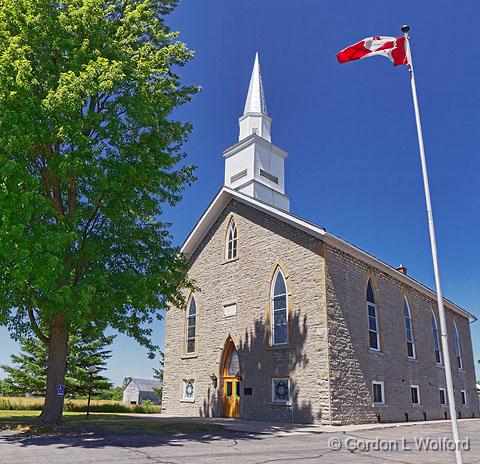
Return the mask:
<svg viewBox="0 0 480 464">
<path fill-rule="evenodd" d="M 101 449 L 107 447 L 117 448 L 148 448 L 159 446 L 184 446 L 193 443 L 213 443 L 218 440 L 260 440 L 276 433 L 279 429 L 285 432 L 294 432 L 302 424 L 315 420 L 312 405 L 305 400 L 299 400 L 300 388 L 305 388 L 302 383 L 308 375 L 309 360 L 306 355 L 306 340 L 308 333 L 307 316 L 291 315 L 289 330 L 291 343 L 282 349 L 272 349 L 269 344 L 269 331 L 263 319 L 257 319 L 252 328 L 245 330 L 237 339 L 237 351 L 240 370 L 242 374 L 242 418 L 249 419 L 242 427 L 234 424 L 234 419 L 222 418 L 223 391 L 221 378 L 219 386 L 208 390 L 207 398 L 202 403 L 199 411 L 201 417 L 197 418 L 168 418 L 161 415 L 152 417 L 136 416 L 123 420 L 118 417 L 102 424 L 82 424 L 80 421 L 71 423 L 66 421 L 65 428 L 57 434 L 19 434 L 12 431 L 0 431 L 0 443 L 20 447 L 48 447 L 58 449 L 76 447 L 85 449 Z M 230 342 L 227 339 L 226 346 Z M 260 362 L 261 360 L 261 362 Z M 289 377 L 291 381 L 291 401 L 289 405 L 274 404 L 271 401 L 272 378 Z M 263 379 L 255 382 L 255 379 Z M 245 400 L 244 387 L 253 385 L 253 395 Z M 252 388 L 252 387 L 250 387 Z M 306 397 L 306 395 L 302 395 Z M 213 416 L 213 417 L 212 417 Z M 219 417 L 220 416 L 220 417 Z M 320 416 L 319 416 L 320 417 Z M 268 420 L 265 420 L 268 418 Z M 20 419 L 20 418 L 19 418 Z M 30 418 L 31 419 L 31 418 Z M 125 419 L 127 419 L 125 417 Z M 265 420 L 265 421 L 262 421 Z M 252 421 L 254 420 L 254 421 Z M 140 423 L 149 422 L 149 426 L 140 427 Z M 18 423 L 18 422 L 17 422 Z M 139 426 L 135 430 L 135 423 Z M 152 426 L 156 423 L 158 427 Z M 193 424 L 186 427 L 184 432 L 181 427 L 172 428 L 179 433 L 168 433 L 168 427 L 162 428 L 160 424 Z M 207 424 L 203 426 L 202 424 Z M 228 424 L 224 429 L 214 429 L 214 424 Z M 195 426 L 196 424 L 196 426 Z M 247 425 L 245 425 L 247 424 Z M 248 424 L 252 424 L 249 426 Z M 203 428 L 203 430 L 202 430 Z M 207 430 L 205 430 L 207 429 Z M 0 423 L 1 430 L 1 423 Z"/>
</svg>

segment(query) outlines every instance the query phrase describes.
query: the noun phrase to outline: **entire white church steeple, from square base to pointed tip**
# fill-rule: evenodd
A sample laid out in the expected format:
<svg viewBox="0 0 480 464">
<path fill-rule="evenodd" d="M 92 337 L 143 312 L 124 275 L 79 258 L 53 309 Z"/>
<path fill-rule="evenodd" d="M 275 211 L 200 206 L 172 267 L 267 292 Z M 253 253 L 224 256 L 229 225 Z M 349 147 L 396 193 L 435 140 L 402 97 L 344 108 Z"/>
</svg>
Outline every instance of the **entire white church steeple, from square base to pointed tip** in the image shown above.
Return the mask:
<svg viewBox="0 0 480 464">
<path fill-rule="evenodd" d="M 289 211 L 284 166 L 288 153 L 271 142 L 272 120 L 267 114 L 258 53 L 253 64 L 243 116 L 238 121 L 239 142 L 223 152 L 225 186 Z"/>
</svg>

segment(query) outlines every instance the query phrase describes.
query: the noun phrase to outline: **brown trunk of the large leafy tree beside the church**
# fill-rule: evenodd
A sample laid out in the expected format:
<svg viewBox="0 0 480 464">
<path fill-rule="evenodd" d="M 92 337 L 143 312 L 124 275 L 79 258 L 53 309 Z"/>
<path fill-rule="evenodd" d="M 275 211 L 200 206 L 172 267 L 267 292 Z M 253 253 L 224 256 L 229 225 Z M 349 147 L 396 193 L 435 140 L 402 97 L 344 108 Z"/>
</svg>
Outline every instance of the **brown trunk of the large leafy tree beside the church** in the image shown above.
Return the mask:
<svg viewBox="0 0 480 464">
<path fill-rule="evenodd" d="M 62 422 L 68 350 L 68 334 L 63 316 L 54 316 L 50 324 L 49 338 L 47 390 L 42 413 L 36 423 L 55 427 Z"/>
</svg>

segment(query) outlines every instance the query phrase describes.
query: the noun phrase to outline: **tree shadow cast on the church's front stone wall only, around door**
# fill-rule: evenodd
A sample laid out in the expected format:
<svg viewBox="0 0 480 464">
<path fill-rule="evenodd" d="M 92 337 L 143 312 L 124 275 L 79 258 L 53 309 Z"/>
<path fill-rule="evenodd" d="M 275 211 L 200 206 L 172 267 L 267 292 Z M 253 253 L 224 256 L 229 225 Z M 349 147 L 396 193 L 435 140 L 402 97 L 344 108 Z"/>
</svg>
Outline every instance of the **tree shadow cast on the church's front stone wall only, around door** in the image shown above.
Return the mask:
<svg viewBox="0 0 480 464">
<path fill-rule="evenodd" d="M 285 348 L 270 346 L 269 323 L 263 318 L 253 321 L 252 328 L 245 330 L 237 340 L 236 349 L 240 361 L 242 419 L 271 422 L 312 423 L 321 419 L 321 412 L 314 415 L 310 399 L 319 390 L 317 379 L 312 374 L 311 390 L 306 389 L 309 365 L 306 354 L 308 335 L 307 315 L 293 314 L 289 318 L 290 343 Z M 228 337 L 223 350 L 232 338 Z M 225 362 L 225 360 L 222 361 Z M 223 372 L 223 366 L 220 366 Z M 272 378 L 290 378 L 288 405 L 275 403 L 272 399 Z M 300 381 L 301 380 L 301 381 Z M 302 384 L 302 388 L 300 388 Z M 251 395 L 248 394 L 251 389 Z M 199 408 L 202 417 L 223 416 L 223 379 L 218 378 L 218 388 L 213 382 L 208 387 L 207 397 Z"/>
</svg>

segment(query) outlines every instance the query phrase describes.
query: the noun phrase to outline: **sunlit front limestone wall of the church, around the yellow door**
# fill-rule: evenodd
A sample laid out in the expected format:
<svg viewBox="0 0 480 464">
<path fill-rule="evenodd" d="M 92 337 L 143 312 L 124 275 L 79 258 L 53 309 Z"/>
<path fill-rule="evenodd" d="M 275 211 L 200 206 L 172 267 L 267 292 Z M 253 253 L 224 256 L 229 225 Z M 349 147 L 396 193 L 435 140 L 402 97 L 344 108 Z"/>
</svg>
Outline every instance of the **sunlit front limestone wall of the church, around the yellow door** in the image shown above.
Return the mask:
<svg viewBox="0 0 480 464">
<path fill-rule="evenodd" d="M 238 259 L 225 260 L 231 217 Z M 290 339 L 270 344 L 269 296 L 276 266 L 287 283 Z M 184 351 L 185 312 L 167 312 L 163 407 L 182 416 L 223 415 L 222 356 L 232 339 L 240 360 L 241 417 L 265 421 L 330 422 L 325 262 L 319 240 L 243 203 L 232 201 L 190 260 L 195 281 L 197 350 Z M 223 306 L 236 303 L 236 315 Z M 214 385 L 212 377 L 218 379 Z M 272 378 L 289 377 L 292 406 L 272 402 Z M 183 379 L 195 380 L 195 401 L 182 401 Z M 244 395 L 244 388 L 251 395 Z"/>
</svg>

